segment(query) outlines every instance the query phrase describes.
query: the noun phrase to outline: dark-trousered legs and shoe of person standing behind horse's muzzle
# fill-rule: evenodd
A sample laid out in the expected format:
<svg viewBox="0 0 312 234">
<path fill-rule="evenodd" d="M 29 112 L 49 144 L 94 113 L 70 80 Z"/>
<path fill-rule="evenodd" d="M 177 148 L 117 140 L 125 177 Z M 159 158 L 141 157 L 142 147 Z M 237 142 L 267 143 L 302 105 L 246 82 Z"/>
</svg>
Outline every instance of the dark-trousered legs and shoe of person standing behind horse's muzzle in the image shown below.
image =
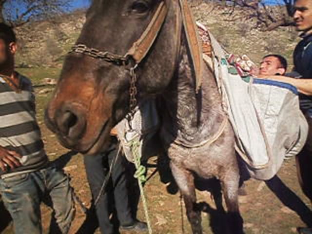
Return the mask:
<svg viewBox="0 0 312 234">
<path fill-rule="evenodd" d="M 148 230 L 146 223 L 133 218 L 130 210 L 125 167 L 123 164 L 124 158 L 121 155 L 117 156 L 117 148 L 117 138 L 112 137 L 112 143 L 107 152 L 95 156 L 84 156 L 89 186 L 93 199 L 96 202 L 95 208 L 99 228 L 102 234 L 116 233 L 116 227 L 110 221 L 110 215 L 113 213 L 115 206 L 120 222 L 120 230 L 145 232 Z M 116 162 L 114 162 L 115 157 L 117 157 Z M 102 191 L 102 185 L 106 175 L 109 173 L 110 166 L 113 166 L 111 179 L 105 191 Z"/>
</svg>

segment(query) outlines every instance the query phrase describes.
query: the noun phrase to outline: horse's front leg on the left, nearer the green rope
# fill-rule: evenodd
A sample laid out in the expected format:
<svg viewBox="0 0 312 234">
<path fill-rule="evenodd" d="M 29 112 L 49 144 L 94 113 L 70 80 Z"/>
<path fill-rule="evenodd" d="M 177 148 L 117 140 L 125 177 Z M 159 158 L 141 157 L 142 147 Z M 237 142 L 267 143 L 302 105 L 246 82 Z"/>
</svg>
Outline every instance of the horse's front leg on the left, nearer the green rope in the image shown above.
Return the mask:
<svg viewBox="0 0 312 234">
<path fill-rule="evenodd" d="M 170 162 L 170 167 L 176 184 L 183 196 L 186 214 L 191 223 L 193 234 L 202 234 L 200 211 L 196 210 L 194 176 L 190 171 L 180 168 L 172 162 Z"/>
</svg>

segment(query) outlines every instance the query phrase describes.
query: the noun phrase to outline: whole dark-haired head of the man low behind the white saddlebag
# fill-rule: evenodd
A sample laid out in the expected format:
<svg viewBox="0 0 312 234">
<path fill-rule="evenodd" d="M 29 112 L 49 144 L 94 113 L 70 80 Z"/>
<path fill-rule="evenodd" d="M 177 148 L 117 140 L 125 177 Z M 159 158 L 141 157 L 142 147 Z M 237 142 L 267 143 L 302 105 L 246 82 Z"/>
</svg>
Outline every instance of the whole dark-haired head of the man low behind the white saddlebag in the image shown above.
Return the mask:
<svg viewBox="0 0 312 234">
<path fill-rule="evenodd" d="M 266 55 L 260 63 L 259 75 L 284 75 L 287 70 L 287 60 L 281 55 Z"/>
</svg>

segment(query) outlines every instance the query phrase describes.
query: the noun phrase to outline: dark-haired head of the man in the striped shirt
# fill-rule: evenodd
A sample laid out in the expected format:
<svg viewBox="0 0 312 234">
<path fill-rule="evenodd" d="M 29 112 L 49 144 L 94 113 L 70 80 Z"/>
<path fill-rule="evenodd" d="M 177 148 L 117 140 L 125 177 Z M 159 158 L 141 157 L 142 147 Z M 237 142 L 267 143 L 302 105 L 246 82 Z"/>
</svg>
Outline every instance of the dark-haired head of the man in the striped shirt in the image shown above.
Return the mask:
<svg viewBox="0 0 312 234">
<path fill-rule="evenodd" d="M 14 63 L 16 51 L 17 44 L 14 31 L 5 23 L 0 23 L 0 69 Z"/>
</svg>

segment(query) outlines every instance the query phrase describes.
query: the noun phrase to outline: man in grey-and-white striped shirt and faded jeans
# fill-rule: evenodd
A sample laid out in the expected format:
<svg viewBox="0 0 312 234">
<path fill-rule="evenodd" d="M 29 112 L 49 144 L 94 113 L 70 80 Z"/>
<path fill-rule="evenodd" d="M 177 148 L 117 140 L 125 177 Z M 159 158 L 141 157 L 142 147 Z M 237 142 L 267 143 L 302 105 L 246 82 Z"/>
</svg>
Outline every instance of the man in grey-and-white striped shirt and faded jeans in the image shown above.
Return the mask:
<svg viewBox="0 0 312 234">
<path fill-rule="evenodd" d="M 69 179 L 49 165 L 35 116 L 31 81 L 14 71 L 13 30 L 0 23 L 0 193 L 16 234 L 42 233 L 40 203 L 49 194 L 68 233 L 75 215 Z"/>
</svg>

